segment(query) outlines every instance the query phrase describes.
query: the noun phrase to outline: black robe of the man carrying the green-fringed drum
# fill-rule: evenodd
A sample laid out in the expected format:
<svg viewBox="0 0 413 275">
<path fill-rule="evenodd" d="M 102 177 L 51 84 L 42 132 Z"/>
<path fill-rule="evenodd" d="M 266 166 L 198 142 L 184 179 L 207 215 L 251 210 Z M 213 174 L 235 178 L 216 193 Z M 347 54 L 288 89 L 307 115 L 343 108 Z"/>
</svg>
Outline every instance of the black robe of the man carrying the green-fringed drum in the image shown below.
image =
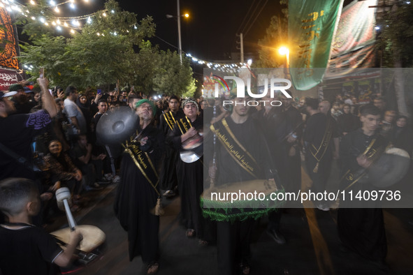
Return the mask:
<svg viewBox="0 0 413 275">
<path fill-rule="evenodd" d="M 252 154 L 258 163 L 259 171 L 254 170 L 254 174 L 260 179 L 270 179 L 274 177 L 275 169 L 273 161 L 268 153 L 268 146 L 264 133 L 259 126 L 259 121 L 249 117 L 242 124 L 236 124 L 231 117 L 225 119 L 233 135 L 245 149 Z M 212 133 L 205 137 L 205 152 L 213 152 Z M 241 168 L 238 162 L 229 156 L 228 151 L 217 140 L 215 144 L 217 158 L 217 176 L 215 185 L 229 184 L 231 182 L 249 181 L 256 179 L 245 169 Z M 207 153 L 205 153 L 207 154 Z M 208 157 L 207 157 L 208 156 Z M 210 163 L 210 156 L 207 154 L 205 161 Z M 242 190 L 242 192 L 249 192 Z M 252 191 L 253 192 L 253 191 Z M 249 244 L 252 240 L 252 232 L 256 225 L 254 218 L 247 218 L 244 221 L 217 222 L 217 251 L 219 274 L 237 274 L 240 264 L 247 265 L 250 258 Z"/>
</svg>

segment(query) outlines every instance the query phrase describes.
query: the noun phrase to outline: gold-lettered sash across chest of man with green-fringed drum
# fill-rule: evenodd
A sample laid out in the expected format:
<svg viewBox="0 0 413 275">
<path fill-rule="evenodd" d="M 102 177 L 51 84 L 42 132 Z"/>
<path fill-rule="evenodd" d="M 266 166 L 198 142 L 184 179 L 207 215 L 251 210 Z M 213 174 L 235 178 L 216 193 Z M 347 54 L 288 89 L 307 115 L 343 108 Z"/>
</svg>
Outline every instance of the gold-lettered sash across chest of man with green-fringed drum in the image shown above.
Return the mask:
<svg viewBox="0 0 413 275">
<path fill-rule="evenodd" d="M 219 142 L 222 143 L 226 151 L 233 158 L 242 169 L 247 171 L 253 177 L 258 179 L 255 170 L 259 170 L 259 165 L 256 163 L 251 154 L 242 146 L 242 144 L 237 140 L 236 136 L 232 133 L 225 119 L 218 121 L 217 123 L 210 126 L 210 129 L 218 137 Z"/>
</svg>

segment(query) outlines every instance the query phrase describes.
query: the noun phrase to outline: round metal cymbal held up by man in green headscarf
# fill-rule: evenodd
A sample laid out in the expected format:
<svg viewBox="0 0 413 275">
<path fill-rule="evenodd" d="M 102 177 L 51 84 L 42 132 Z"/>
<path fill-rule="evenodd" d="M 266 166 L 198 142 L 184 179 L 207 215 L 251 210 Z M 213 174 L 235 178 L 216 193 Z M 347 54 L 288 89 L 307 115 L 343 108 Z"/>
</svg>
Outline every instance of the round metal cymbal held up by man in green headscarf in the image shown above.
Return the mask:
<svg viewBox="0 0 413 275">
<path fill-rule="evenodd" d="M 136 131 L 138 116 L 130 107 L 121 106 L 106 112 L 96 126 L 96 138 L 100 144 L 119 144 Z"/>
</svg>

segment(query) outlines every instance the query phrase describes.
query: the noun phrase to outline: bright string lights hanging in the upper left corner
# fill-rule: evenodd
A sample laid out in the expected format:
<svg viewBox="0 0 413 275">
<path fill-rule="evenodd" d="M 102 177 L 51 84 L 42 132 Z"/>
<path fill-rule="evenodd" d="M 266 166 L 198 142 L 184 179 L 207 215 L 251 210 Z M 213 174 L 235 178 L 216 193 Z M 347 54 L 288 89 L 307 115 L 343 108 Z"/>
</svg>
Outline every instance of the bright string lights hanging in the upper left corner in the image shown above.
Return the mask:
<svg viewBox="0 0 413 275">
<path fill-rule="evenodd" d="M 89 0 L 83 0 L 84 2 L 88 3 Z M 37 3 L 34 0 L 29 1 L 31 6 L 36 6 Z M 49 4 L 50 6 L 43 6 L 43 8 L 49 8 L 51 9 L 54 13 L 60 13 L 60 10 L 58 6 L 64 5 L 68 3 L 71 8 L 75 8 L 75 0 L 68 0 L 64 1 L 61 3 L 56 3 L 55 0 L 50 0 Z M 29 5 L 29 4 L 28 4 Z M 21 3 L 18 3 L 15 0 L 1 0 L 0 1 L 0 8 L 5 8 L 9 13 L 14 13 L 14 15 L 17 16 L 24 16 L 31 18 L 31 20 L 38 20 L 45 26 L 50 26 L 50 27 L 55 27 L 57 31 L 61 31 L 63 28 L 69 29 L 71 34 L 75 34 L 75 30 L 80 30 L 82 29 L 82 23 L 80 21 L 85 20 L 85 24 L 90 24 L 92 23 L 92 17 L 98 13 L 101 13 L 103 17 L 106 17 L 108 10 L 100 10 L 99 12 L 96 13 L 91 13 L 88 15 L 81 15 L 81 16 L 75 16 L 75 17 L 48 17 L 46 18 L 45 16 L 42 15 L 33 15 L 29 11 L 29 6 L 24 6 Z M 112 13 L 115 11 L 112 10 Z"/>
</svg>

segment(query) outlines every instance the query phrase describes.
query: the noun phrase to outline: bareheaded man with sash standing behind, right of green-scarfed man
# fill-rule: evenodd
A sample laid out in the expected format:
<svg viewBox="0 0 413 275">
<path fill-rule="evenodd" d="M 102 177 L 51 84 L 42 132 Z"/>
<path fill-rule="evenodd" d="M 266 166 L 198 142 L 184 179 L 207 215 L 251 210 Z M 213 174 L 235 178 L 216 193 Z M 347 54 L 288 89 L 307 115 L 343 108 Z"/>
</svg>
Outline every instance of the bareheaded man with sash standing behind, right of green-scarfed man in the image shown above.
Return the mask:
<svg viewBox="0 0 413 275">
<path fill-rule="evenodd" d="M 164 112 L 161 115 L 159 124 L 164 137 L 167 137 L 178 119 L 184 117 L 184 113 L 180 110 L 180 103 L 177 96 L 171 96 L 168 101 L 169 112 Z M 171 198 L 175 195 L 174 189 L 177 187 L 176 163 L 178 161 L 179 151 L 173 147 L 166 147 L 166 156 L 161 174 L 161 189 L 166 190 L 163 194 L 166 198 Z"/>
</svg>

